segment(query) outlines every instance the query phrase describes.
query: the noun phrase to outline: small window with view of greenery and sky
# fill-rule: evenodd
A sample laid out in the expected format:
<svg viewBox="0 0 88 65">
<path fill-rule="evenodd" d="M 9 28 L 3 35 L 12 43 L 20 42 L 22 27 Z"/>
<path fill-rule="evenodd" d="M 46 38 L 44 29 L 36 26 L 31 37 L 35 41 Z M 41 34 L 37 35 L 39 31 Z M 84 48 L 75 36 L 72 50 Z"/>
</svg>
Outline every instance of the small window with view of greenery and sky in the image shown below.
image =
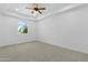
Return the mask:
<svg viewBox="0 0 88 65">
<path fill-rule="evenodd" d="M 27 23 L 23 21 L 18 22 L 18 34 L 27 34 L 28 33 L 28 26 Z"/>
</svg>

